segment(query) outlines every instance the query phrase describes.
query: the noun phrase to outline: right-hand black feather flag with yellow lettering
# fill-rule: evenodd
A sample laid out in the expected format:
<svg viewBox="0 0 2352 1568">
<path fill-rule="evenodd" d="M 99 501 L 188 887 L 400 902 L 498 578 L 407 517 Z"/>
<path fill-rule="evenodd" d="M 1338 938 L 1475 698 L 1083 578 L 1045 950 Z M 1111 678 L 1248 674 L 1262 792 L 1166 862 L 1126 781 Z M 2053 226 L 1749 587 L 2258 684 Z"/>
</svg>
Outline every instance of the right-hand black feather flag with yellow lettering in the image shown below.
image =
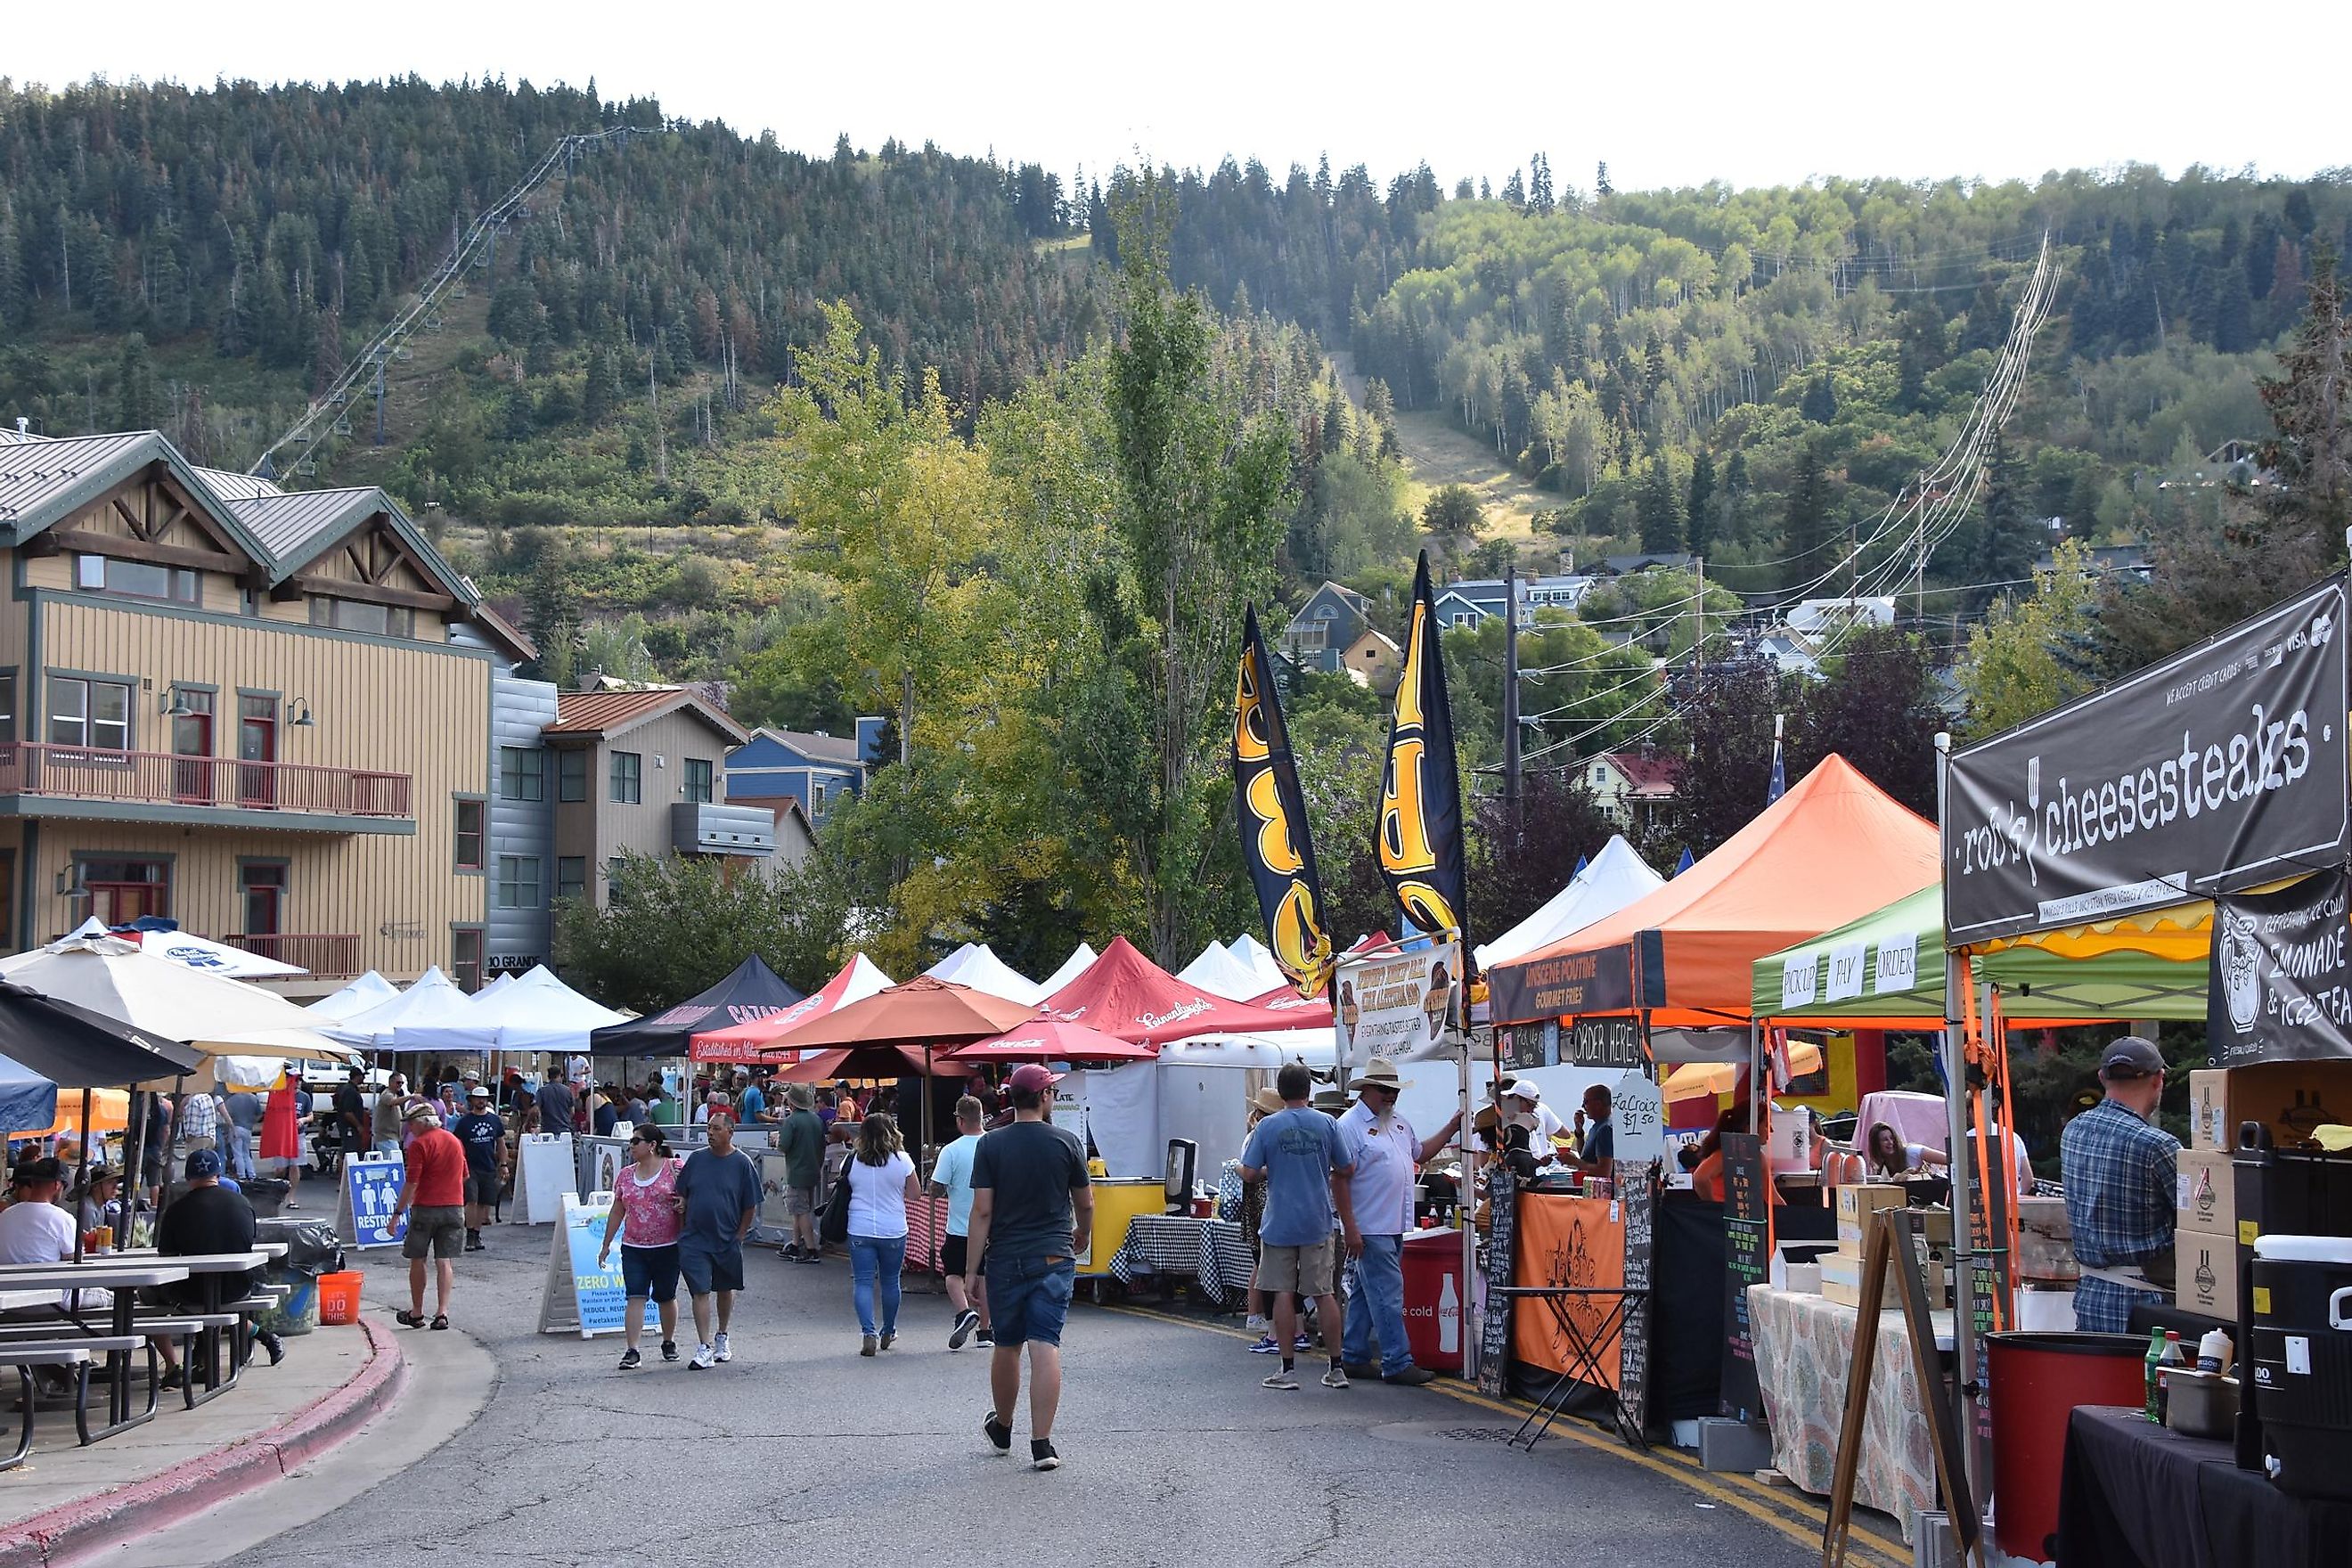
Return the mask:
<svg viewBox="0 0 2352 1568">
<path fill-rule="evenodd" d="M 1381 771 L 1381 877 L 1418 931 L 1463 929 L 1463 797 L 1454 764 L 1454 708 L 1437 656 L 1430 552 L 1414 569 L 1414 621 L 1404 632 L 1404 675 L 1388 724 Z M 1468 945 L 1463 947 L 1468 952 Z"/>
</svg>

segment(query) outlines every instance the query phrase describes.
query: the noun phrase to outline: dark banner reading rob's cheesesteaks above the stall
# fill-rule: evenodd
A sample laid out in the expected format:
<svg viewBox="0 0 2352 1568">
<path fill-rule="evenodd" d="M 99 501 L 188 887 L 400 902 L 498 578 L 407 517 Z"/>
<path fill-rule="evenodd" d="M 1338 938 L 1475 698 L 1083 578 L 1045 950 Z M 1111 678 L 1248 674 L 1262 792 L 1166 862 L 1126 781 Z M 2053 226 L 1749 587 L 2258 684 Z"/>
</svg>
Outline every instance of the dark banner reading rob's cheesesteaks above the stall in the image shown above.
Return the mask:
<svg viewBox="0 0 2352 1568">
<path fill-rule="evenodd" d="M 2345 858 L 2345 581 L 1952 755 L 1950 943 Z"/>
</svg>

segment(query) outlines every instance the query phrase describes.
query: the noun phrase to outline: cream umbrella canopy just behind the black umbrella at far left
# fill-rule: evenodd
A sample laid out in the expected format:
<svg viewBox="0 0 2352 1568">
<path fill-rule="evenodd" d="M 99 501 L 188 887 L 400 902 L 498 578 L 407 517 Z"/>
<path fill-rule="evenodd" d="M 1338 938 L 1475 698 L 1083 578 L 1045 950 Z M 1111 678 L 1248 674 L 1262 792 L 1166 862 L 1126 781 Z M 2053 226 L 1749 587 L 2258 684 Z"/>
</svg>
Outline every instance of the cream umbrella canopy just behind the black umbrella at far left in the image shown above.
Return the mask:
<svg viewBox="0 0 2352 1568">
<path fill-rule="evenodd" d="M 118 936 L 68 936 L 0 961 L 0 978 L 71 1001 L 139 1034 L 176 1039 L 202 1056 L 226 1051 L 341 1063 L 350 1053 L 315 1027 L 318 1018 L 278 992 L 188 969 Z M 0 1051 L 7 1051 L 0 1044 Z M 28 1067 L 40 1067 L 9 1051 Z M 49 1077 L 56 1077 L 54 1072 Z M 66 1079 L 56 1079 L 64 1084 Z M 129 1079 L 99 1077 L 96 1084 Z"/>
</svg>

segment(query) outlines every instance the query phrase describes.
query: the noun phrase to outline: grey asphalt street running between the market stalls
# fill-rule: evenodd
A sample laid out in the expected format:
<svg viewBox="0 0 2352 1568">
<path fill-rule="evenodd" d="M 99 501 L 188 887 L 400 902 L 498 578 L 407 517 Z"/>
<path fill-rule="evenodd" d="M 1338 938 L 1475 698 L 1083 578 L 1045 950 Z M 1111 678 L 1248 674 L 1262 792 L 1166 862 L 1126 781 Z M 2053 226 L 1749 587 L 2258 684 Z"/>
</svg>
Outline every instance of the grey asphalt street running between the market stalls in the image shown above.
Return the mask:
<svg viewBox="0 0 2352 1568">
<path fill-rule="evenodd" d="M 501 1227 L 492 1253 L 463 1262 L 452 1316 L 499 1368 L 482 1415 L 235 1563 L 346 1563 L 390 1544 L 475 1563 L 1818 1561 L 1797 1526 L 1776 1530 L 1613 1450 L 1510 1453 L 1501 1432 L 1515 1418 L 1425 1389 L 1263 1392 L 1265 1359 L 1230 1335 L 1084 1305 L 1065 1342 L 1065 1462 L 1037 1474 L 981 1439 L 985 1359 L 946 1349 L 943 1298 L 910 1293 L 898 1349 L 856 1354 L 844 1262 L 793 1269 L 755 1251 L 731 1366 L 621 1375 L 619 1338 L 532 1333 L 546 1237 Z M 390 1302 L 397 1260 L 369 1253 L 362 1267 L 369 1300 Z M 449 1375 L 437 1359 L 414 1373 Z M 376 1441 L 362 1434 L 334 1462 L 365 1465 Z"/>
</svg>

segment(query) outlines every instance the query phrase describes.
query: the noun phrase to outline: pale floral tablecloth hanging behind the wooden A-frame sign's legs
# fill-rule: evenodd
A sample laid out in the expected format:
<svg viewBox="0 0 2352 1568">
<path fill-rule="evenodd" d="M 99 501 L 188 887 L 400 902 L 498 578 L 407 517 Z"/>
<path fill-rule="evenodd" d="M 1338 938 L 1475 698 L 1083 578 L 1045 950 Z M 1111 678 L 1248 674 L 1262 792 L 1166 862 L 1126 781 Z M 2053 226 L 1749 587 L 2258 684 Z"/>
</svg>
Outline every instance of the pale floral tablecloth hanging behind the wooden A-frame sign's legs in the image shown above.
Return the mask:
<svg viewBox="0 0 2352 1568">
<path fill-rule="evenodd" d="M 1837 1472 L 1837 1434 L 1846 1418 L 1846 1373 L 1853 1366 L 1860 1312 L 1823 1295 L 1748 1286 L 1748 1316 L 1757 1338 L 1764 1418 L 1771 1422 L 1771 1460 L 1799 1488 L 1828 1495 Z M 1931 1316 L 1936 1342 L 1947 1349 L 1952 1314 Z M 1893 1514 L 1905 1542 L 1912 1535 L 1912 1514 L 1936 1507 L 1936 1453 L 1929 1446 L 1924 1410 L 1903 1314 L 1882 1312 L 1853 1500 Z"/>
</svg>

